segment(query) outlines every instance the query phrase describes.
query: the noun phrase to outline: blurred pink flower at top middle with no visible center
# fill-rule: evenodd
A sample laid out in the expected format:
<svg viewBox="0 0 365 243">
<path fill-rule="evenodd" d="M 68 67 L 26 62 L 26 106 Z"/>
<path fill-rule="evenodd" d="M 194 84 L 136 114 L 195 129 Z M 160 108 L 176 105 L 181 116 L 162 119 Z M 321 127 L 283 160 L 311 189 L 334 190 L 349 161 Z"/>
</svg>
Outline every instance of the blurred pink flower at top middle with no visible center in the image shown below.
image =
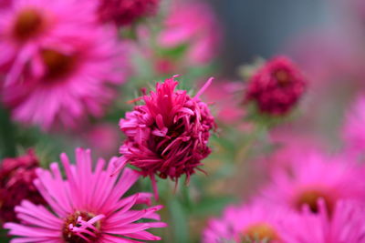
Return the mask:
<svg viewBox="0 0 365 243">
<path fill-rule="evenodd" d="M 177 1 L 165 20 L 158 42 L 165 48 L 187 46 L 188 62 L 203 65 L 217 54 L 220 38 L 220 26 L 209 5 Z"/>
</svg>

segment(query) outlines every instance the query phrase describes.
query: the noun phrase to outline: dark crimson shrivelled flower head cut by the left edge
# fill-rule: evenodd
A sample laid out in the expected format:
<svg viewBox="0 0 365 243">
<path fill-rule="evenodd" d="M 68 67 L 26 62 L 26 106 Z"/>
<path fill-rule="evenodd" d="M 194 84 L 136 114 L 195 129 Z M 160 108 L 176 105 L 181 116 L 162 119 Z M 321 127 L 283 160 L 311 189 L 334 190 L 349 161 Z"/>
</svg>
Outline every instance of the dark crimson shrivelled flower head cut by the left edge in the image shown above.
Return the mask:
<svg viewBox="0 0 365 243">
<path fill-rule="evenodd" d="M 16 221 L 14 208 L 23 199 L 45 204 L 33 180 L 36 178 L 38 159 L 32 149 L 26 155 L 5 158 L 0 164 L 0 221 Z"/>
</svg>

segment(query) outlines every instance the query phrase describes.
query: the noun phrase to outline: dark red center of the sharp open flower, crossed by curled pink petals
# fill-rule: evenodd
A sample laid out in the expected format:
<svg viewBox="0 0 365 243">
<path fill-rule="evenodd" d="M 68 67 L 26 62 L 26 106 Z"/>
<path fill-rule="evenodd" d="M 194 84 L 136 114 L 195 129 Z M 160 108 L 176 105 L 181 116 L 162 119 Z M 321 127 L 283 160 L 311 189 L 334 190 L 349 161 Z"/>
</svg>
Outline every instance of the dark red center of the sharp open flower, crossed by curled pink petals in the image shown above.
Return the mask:
<svg viewBox="0 0 365 243">
<path fill-rule="evenodd" d="M 100 219 L 103 215 L 77 211 L 65 219 L 62 236 L 66 243 L 96 242 L 100 236 Z"/>
</svg>

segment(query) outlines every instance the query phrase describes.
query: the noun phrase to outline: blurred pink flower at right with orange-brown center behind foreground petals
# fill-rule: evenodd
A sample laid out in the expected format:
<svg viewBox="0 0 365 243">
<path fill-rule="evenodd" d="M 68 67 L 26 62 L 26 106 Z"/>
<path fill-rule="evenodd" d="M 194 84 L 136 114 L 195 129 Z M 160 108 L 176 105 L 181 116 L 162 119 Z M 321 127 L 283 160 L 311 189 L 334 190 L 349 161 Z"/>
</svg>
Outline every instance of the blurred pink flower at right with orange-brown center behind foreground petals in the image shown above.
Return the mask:
<svg viewBox="0 0 365 243">
<path fill-rule="evenodd" d="M 312 152 L 297 157 L 290 167 L 274 170 L 263 196 L 299 212 L 306 206 L 314 214 L 322 198 L 331 215 L 341 199 L 364 200 L 365 182 L 360 166 L 349 158 Z"/>
</svg>

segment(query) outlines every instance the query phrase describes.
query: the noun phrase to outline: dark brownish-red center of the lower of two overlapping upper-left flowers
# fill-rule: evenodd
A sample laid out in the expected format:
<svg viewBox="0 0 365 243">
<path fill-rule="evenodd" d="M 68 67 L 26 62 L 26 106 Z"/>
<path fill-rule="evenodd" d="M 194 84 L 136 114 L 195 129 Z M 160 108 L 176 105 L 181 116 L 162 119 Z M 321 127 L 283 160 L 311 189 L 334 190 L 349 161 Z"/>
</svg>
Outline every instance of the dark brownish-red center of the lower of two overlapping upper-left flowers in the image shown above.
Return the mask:
<svg viewBox="0 0 365 243">
<path fill-rule="evenodd" d="M 76 56 L 65 55 L 51 49 L 42 50 L 41 56 L 46 65 L 46 77 L 49 79 L 68 76 L 75 67 Z"/>
</svg>

